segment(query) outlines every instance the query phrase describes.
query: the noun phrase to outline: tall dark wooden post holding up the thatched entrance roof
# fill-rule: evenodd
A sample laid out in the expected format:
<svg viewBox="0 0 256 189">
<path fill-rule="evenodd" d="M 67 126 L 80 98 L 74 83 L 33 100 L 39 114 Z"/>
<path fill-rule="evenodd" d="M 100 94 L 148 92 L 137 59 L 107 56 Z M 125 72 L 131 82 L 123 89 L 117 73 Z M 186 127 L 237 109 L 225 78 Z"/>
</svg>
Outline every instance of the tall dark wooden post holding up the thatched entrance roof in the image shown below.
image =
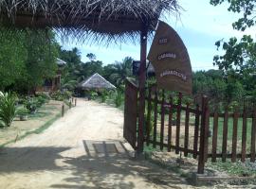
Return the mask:
<svg viewBox="0 0 256 189">
<path fill-rule="evenodd" d="M 143 152 L 144 145 L 144 125 L 145 125 L 145 83 L 146 83 L 146 60 L 147 60 L 147 35 L 148 30 L 145 24 L 140 32 L 140 68 L 139 68 L 139 107 L 138 107 L 138 135 L 137 154 Z"/>
</svg>

